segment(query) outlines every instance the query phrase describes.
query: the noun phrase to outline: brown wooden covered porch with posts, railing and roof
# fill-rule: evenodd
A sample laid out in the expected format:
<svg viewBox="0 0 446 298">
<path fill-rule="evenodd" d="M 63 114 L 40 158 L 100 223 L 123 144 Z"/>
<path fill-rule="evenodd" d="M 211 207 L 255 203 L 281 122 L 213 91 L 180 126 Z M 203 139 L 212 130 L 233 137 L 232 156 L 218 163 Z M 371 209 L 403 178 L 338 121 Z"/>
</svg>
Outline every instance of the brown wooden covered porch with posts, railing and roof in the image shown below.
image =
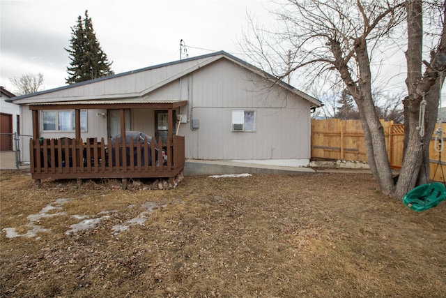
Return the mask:
<svg viewBox="0 0 446 298">
<path fill-rule="evenodd" d="M 175 109 L 187 100 L 85 100 L 29 104 L 32 114 L 33 138 L 30 140 L 30 171 L 36 184 L 40 179 L 123 179 L 164 178 L 171 183 L 185 165 L 185 138 L 174 130 Z M 167 111 L 167 137 L 141 135 L 126 142 L 125 110 L 155 109 Z M 119 110 L 120 142 L 97 135 L 81 137 L 81 110 Z M 75 137 L 41 137 L 42 110 L 74 110 Z M 163 159 L 163 154 L 165 158 Z"/>
</svg>

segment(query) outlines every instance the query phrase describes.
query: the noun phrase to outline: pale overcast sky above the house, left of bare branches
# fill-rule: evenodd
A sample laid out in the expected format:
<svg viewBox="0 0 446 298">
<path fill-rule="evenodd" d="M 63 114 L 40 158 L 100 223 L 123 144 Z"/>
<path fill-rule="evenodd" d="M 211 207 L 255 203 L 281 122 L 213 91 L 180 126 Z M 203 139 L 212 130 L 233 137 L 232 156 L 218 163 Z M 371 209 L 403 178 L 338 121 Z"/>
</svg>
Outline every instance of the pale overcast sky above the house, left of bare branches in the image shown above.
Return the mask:
<svg viewBox="0 0 446 298">
<path fill-rule="evenodd" d="M 247 31 L 247 13 L 268 22 L 271 5 L 260 0 L 0 0 L 0 84 L 14 92 L 10 77 L 43 73 L 46 90 L 65 85 L 70 60 L 64 48 L 85 10 L 112 69 L 123 73 L 178 60 L 181 39 L 189 57 L 224 50 L 243 59 L 238 40 Z"/>
</svg>

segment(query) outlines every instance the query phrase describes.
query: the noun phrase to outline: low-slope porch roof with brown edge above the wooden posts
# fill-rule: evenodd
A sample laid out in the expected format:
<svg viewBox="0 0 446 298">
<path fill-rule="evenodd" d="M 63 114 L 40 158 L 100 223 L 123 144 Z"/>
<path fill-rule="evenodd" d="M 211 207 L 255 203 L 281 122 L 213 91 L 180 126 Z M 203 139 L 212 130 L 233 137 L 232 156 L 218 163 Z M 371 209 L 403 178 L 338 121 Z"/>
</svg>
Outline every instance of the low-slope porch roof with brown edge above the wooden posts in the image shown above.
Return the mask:
<svg viewBox="0 0 446 298">
<path fill-rule="evenodd" d="M 174 109 L 187 105 L 187 100 L 163 99 L 111 99 L 111 100 L 78 100 L 54 101 L 46 103 L 29 103 L 30 110 L 65 110 L 65 109 L 132 109 L 151 107 L 155 109 Z"/>
</svg>

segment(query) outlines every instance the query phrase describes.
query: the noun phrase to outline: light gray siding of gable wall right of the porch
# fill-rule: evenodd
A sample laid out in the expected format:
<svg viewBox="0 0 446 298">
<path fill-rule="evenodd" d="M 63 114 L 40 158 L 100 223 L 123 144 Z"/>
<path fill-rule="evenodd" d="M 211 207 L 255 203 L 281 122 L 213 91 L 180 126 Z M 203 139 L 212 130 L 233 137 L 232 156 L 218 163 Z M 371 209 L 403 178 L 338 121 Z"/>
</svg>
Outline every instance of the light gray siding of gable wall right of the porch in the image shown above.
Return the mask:
<svg viewBox="0 0 446 298">
<path fill-rule="evenodd" d="M 189 116 L 199 119 L 200 124 L 197 130 L 192 130 L 189 123 L 181 124 L 186 158 L 310 158 L 307 100 L 271 87 L 261 77 L 226 60 L 201 68 L 183 82 L 188 82 Z M 185 89 L 184 83 L 182 89 Z M 232 110 L 254 110 L 256 131 L 232 132 Z"/>
</svg>

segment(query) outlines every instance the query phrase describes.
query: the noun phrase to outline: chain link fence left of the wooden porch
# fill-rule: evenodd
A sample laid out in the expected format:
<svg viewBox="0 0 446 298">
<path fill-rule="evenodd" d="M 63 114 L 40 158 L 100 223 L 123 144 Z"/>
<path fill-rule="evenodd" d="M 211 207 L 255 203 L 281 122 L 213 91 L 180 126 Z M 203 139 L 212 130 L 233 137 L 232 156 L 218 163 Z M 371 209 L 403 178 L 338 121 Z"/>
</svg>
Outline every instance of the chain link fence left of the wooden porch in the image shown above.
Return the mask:
<svg viewBox="0 0 446 298">
<path fill-rule="evenodd" d="M 0 169 L 20 170 L 29 166 L 31 135 L 0 133 Z"/>
</svg>

